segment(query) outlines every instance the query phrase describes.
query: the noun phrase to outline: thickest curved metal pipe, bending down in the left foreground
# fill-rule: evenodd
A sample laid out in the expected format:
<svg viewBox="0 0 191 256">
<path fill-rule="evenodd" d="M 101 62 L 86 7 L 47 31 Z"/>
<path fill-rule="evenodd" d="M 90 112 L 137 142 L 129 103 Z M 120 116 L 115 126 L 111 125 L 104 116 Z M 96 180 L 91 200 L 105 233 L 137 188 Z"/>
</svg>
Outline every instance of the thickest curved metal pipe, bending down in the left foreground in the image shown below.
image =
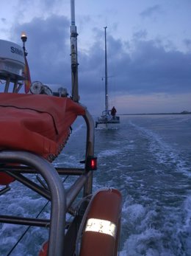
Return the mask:
<svg viewBox="0 0 191 256">
<path fill-rule="evenodd" d="M 43 176 L 51 193 L 48 256 L 64 255 L 66 193 L 57 170 L 46 159 L 25 151 L 1 151 L 0 161 L 31 166 Z"/>
</svg>

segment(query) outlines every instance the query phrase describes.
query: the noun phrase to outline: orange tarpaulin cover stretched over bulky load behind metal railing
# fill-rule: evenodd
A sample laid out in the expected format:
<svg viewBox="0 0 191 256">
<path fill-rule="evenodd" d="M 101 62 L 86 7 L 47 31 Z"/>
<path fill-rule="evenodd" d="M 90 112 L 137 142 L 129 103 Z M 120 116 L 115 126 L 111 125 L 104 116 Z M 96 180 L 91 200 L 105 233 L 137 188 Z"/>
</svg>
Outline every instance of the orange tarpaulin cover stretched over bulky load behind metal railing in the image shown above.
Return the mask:
<svg viewBox="0 0 191 256">
<path fill-rule="evenodd" d="M 53 160 L 82 105 L 67 97 L 0 93 L 0 150 L 31 151 Z"/>
</svg>

